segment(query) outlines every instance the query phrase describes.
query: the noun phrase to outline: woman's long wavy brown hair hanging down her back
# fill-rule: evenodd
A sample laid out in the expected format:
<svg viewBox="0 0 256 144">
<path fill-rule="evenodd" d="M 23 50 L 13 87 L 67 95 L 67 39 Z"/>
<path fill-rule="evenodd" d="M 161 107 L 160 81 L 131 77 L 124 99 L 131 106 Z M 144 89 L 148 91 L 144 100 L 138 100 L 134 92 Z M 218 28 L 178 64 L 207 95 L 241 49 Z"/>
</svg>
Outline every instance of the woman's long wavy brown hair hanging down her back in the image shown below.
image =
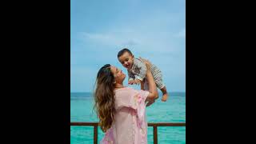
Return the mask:
<svg viewBox="0 0 256 144">
<path fill-rule="evenodd" d="M 114 75 L 110 64 L 98 70 L 96 88 L 94 90 L 94 108 L 99 118 L 99 126 L 103 132 L 108 130 L 114 122 Z"/>
</svg>

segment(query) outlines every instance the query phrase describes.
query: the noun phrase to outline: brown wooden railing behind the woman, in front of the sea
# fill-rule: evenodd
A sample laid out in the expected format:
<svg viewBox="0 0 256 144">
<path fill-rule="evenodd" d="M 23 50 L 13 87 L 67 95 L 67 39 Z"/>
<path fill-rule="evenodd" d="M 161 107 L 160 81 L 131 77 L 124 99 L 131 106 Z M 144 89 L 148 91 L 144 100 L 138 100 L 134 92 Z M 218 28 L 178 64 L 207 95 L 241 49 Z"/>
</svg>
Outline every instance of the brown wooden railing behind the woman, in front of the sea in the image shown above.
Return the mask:
<svg viewBox="0 0 256 144">
<path fill-rule="evenodd" d="M 94 126 L 94 144 L 98 143 L 98 122 L 70 122 L 70 126 Z M 158 143 L 158 126 L 186 126 L 186 122 L 170 123 L 156 122 L 148 123 L 148 126 L 153 126 L 154 144 Z"/>
</svg>

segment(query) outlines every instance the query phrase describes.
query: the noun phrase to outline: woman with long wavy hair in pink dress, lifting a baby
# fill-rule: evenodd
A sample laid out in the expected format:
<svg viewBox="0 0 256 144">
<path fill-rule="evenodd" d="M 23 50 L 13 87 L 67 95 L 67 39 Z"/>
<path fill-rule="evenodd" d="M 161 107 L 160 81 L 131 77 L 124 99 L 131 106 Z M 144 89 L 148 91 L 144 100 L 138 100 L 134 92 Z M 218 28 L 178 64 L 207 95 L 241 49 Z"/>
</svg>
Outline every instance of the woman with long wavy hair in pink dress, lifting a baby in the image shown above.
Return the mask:
<svg viewBox="0 0 256 144">
<path fill-rule="evenodd" d="M 150 63 L 145 62 L 149 91 L 123 86 L 126 74 L 110 64 L 98 71 L 94 107 L 99 126 L 106 132 L 102 144 L 147 143 L 146 102 L 154 102 L 158 91 L 150 73 Z"/>
</svg>

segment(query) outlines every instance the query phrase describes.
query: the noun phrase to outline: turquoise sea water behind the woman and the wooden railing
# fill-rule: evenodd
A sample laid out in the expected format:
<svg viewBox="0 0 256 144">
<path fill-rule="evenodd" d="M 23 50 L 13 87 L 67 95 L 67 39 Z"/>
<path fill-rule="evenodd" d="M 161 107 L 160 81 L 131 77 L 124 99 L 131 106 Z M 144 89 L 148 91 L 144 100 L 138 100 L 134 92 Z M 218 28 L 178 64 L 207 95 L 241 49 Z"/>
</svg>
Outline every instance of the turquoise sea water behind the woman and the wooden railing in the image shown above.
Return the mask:
<svg viewBox="0 0 256 144">
<path fill-rule="evenodd" d="M 167 102 L 161 101 L 159 93 L 157 102 L 146 108 L 148 122 L 186 122 L 186 93 L 169 93 Z M 70 93 L 70 122 L 98 122 L 93 111 L 94 99 L 91 93 Z M 98 127 L 98 143 L 104 133 Z M 70 126 L 71 144 L 91 144 L 94 142 L 93 126 Z M 148 143 L 153 144 L 153 127 L 148 127 Z M 158 127 L 158 143 L 186 143 L 186 127 Z"/>
</svg>

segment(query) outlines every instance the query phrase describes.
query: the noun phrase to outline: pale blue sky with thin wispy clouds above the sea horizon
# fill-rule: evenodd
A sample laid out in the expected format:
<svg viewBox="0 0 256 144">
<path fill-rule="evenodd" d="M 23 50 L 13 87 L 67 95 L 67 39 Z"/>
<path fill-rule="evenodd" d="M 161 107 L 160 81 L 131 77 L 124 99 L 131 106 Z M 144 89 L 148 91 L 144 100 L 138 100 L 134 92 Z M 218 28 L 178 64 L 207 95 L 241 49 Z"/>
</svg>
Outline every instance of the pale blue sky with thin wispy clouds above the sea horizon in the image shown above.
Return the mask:
<svg viewBox="0 0 256 144">
<path fill-rule="evenodd" d="M 185 0 L 71 0 L 70 90 L 92 92 L 105 64 L 128 48 L 162 70 L 167 91 L 186 91 Z M 139 88 L 139 86 L 132 86 Z"/>
</svg>

